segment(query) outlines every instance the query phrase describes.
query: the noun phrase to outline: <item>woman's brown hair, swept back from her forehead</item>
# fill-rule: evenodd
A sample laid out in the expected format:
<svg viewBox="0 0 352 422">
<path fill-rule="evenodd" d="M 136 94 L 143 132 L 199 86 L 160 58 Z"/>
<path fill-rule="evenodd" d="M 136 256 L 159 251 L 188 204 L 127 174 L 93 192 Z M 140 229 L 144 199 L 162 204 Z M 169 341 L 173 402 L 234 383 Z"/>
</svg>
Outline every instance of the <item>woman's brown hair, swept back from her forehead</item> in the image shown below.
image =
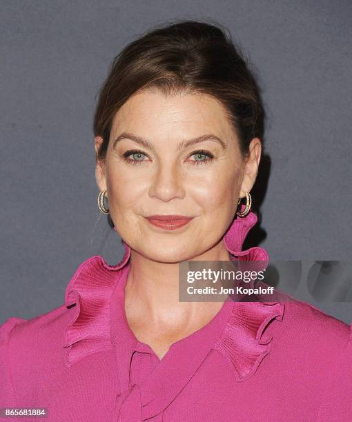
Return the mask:
<svg viewBox="0 0 352 422">
<path fill-rule="evenodd" d="M 116 112 L 133 94 L 148 88 L 164 94 L 205 93 L 220 101 L 242 157 L 254 137 L 264 137 L 260 90 L 228 30 L 201 21 L 173 21 L 128 44 L 110 65 L 95 109 L 93 131 L 104 139 L 96 161 L 106 158 Z"/>
</svg>

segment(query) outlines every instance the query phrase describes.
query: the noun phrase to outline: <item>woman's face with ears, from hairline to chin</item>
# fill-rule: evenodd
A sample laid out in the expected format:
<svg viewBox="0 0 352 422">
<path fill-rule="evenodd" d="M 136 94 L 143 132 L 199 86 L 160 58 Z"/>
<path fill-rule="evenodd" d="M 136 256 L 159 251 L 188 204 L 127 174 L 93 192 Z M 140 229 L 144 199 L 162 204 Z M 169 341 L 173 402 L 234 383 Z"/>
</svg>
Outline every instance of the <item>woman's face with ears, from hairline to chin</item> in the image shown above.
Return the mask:
<svg viewBox="0 0 352 422">
<path fill-rule="evenodd" d="M 96 152 L 101 141 L 96 137 Z M 148 259 L 175 263 L 223 247 L 219 242 L 239 197 L 254 184 L 259 161 L 260 140 L 253 139 L 245 162 L 226 112 L 213 97 L 144 91 L 115 115 L 106 161 L 97 165 L 96 177 L 99 189 L 107 190 L 115 228 L 130 248 Z M 155 214 L 193 219 L 166 230 L 146 219 Z"/>
</svg>

